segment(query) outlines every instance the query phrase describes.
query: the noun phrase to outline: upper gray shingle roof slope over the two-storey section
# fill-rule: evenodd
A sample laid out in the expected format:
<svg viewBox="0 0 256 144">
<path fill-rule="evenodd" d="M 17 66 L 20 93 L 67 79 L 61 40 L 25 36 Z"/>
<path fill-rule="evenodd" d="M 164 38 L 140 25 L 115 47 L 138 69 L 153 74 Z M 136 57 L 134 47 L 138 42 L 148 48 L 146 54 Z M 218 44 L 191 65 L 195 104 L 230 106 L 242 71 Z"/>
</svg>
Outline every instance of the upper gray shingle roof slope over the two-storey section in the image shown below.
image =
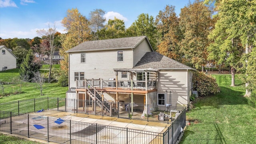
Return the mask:
<svg viewBox="0 0 256 144">
<path fill-rule="evenodd" d="M 108 40 L 94 40 L 86 41 L 74 48 L 71 48 L 67 52 L 84 52 L 84 51 L 97 51 L 97 50 L 116 50 L 135 48 L 146 36 L 136 36 L 128 38 L 113 38 Z"/>
</svg>

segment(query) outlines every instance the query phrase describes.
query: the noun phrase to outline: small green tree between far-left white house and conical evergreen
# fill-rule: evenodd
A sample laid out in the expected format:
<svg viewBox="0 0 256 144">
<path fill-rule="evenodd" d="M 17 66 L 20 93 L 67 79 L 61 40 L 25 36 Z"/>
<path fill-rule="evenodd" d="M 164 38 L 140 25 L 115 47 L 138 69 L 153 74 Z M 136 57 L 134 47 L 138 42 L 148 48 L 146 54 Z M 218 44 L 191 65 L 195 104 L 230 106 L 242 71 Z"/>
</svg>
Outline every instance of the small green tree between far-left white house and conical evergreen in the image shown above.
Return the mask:
<svg viewBox="0 0 256 144">
<path fill-rule="evenodd" d="M 13 48 L 12 53 L 18 58 L 16 63 L 17 63 L 17 67 L 20 67 L 20 64 L 26 57 L 28 50 L 25 48 L 22 48 L 21 46 L 16 46 L 15 48 Z"/>
</svg>

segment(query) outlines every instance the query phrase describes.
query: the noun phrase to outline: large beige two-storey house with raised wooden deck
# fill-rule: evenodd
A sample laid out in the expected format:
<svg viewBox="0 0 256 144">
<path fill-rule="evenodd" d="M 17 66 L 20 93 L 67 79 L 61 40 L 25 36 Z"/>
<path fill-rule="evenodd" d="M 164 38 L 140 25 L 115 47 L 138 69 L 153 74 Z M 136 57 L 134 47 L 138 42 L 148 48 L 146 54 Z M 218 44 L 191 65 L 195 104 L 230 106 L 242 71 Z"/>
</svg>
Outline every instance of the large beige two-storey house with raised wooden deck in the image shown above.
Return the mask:
<svg viewBox="0 0 256 144">
<path fill-rule="evenodd" d="M 83 42 L 67 52 L 66 98 L 102 100 L 103 94 L 108 102 L 183 107 L 190 102 L 196 70 L 153 52 L 146 36 Z"/>
</svg>

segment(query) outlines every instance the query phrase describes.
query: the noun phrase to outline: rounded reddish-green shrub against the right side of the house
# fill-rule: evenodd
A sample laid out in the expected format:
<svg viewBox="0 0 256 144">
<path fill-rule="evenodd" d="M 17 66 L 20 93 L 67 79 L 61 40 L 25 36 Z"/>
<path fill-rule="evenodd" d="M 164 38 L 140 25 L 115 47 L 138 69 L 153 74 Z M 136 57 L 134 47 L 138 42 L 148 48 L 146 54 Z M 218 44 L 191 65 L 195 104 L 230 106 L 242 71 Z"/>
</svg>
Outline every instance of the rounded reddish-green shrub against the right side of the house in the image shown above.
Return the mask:
<svg viewBox="0 0 256 144">
<path fill-rule="evenodd" d="M 220 92 L 216 79 L 203 72 L 196 72 L 193 76 L 194 90 L 198 91 L 198 96 L 205 97 Z"/>
</svg>

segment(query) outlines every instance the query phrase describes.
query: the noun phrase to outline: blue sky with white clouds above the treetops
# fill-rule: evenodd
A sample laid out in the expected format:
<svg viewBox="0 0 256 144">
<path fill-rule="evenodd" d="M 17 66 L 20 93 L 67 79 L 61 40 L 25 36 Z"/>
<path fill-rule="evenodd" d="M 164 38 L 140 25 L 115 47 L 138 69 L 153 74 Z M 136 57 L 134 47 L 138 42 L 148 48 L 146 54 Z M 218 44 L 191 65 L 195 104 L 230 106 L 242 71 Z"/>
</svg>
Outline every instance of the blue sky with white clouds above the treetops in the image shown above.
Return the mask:
<svg viewBox="0 0 256 144">
<path fill-rule="evenodd" d="M 190 0 L 193 2 L 194 0 Z M 95 9 L 106 12 L 106 20 L 114 17 L 124 20 L 130 27 L 142 13 L 156 18 L 166 5 L 175 6 L 177 16 L 189 0 L 0 0 L 0 38 L 30 38 L 39 36 L 36 30 L 47 30 L 56 26 L 60 33 L 66 33 L 61 21 L 67 10 L 78 11 L 89 19 Z M 40 37 L 40 36 L 39 36 Z"/>
</svg>

